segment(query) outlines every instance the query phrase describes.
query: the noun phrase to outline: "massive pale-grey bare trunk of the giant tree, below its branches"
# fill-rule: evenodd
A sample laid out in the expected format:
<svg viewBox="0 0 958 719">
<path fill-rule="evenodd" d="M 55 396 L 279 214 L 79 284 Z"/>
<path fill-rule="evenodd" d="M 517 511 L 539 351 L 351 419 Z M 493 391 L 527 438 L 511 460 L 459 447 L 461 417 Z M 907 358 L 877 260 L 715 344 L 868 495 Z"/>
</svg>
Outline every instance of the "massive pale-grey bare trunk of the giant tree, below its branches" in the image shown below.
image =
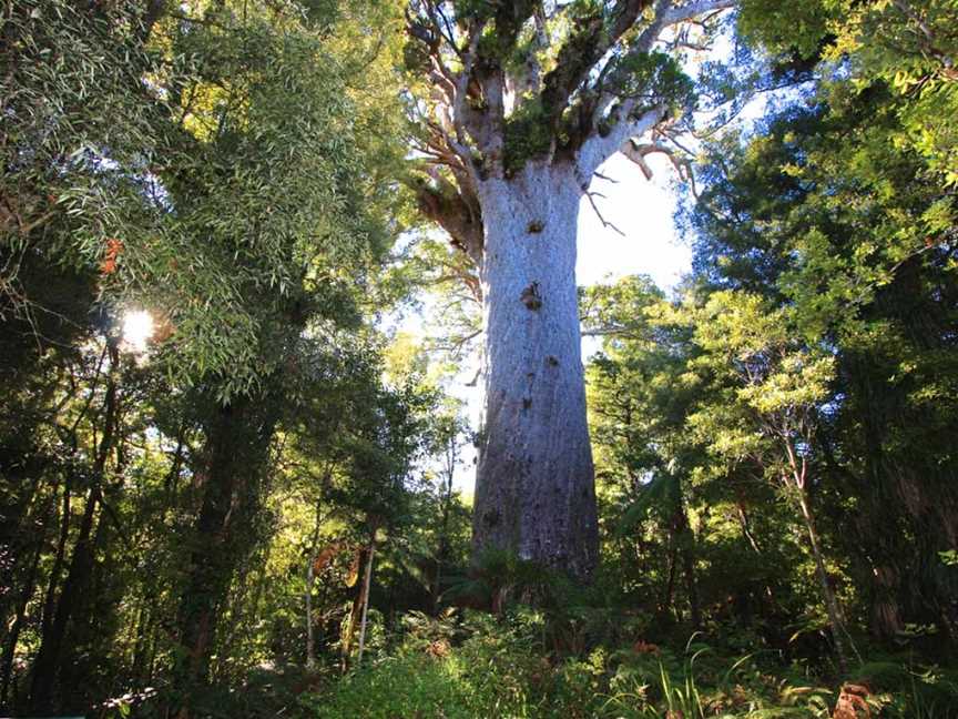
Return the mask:
<svg viewBox="0 0 958 719">
<path fill-rule="evenodd" d="M 598 559 L 571 166 L 529 162 L 480 188 L 486 406 L 473 549 L 588 579 Z"/>
</svg>

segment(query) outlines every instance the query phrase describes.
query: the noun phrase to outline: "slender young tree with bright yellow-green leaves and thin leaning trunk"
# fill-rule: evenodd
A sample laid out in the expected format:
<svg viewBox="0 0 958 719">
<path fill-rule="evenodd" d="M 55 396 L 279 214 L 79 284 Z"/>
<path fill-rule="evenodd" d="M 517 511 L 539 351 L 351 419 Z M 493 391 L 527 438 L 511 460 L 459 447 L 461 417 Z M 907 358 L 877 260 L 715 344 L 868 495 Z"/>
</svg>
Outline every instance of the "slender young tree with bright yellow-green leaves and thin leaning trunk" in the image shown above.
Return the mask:
<svg viewBox="0 0 958 719">
<path fill-rule="evenodd" d="M 717 293 L 696 322 L 704 350 L 695 366 L 721 383 L 714 404 L 689 417 L 726 462 L 752 462 L 781 483 L 807 533 L 809 553 L 828 615 L 838 662 L 847 668 L 847 629 L 828 576 L 809 489 L 815 467 L 817 415 L 830 395 L 834 360 L 795 342 L 787 312 L 774 312 L 747 294 Z"/>
</svg>

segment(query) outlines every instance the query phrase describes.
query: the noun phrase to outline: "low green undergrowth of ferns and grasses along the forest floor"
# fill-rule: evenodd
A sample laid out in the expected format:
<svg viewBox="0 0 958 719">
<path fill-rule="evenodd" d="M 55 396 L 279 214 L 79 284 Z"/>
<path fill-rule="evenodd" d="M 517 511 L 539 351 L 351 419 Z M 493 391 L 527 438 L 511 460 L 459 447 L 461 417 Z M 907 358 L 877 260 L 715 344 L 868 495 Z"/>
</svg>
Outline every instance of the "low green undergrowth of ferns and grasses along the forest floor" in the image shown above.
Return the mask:
<svg viewBox="0 0 958 719">
<path fill-rule="evenodd" d="M 866 662 L 844 681 L 827 681 L 761 654 L 723 652 L 701 635 L 675 647 L 636 640 L 562 656 L 547 649 L 547 624 L 531 610 L 410 615 L 394 649 L 300 697 L 300 716 L 826 718 L 845 687 L 860 697 L 854 706 L 862 717 L 958 718 L 956 676 L 900 659 Z"/>
</svg>

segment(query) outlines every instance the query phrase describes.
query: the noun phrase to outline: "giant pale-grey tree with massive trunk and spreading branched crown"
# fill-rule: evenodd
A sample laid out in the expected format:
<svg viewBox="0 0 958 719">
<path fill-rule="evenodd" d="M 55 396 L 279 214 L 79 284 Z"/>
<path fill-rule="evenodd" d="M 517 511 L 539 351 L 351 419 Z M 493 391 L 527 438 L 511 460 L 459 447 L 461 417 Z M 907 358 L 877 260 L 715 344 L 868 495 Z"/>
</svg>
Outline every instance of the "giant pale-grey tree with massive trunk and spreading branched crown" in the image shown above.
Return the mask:
<svg viewBox="0 0 958 719">
<path fill-rule="evenodd" d="M 478 273 L 486 333 L 473 545 L 588 577 L 592 455 L 575 292 L 579 204 L 623 152 L 644 166 L 692 102 L 677 28 L 734 0 L 414 0 L 419 205 Z M 707 24 L 707 23 L 706 23 Z M 651 140 L 643 141 L 643 138 Z"/>
</svg>

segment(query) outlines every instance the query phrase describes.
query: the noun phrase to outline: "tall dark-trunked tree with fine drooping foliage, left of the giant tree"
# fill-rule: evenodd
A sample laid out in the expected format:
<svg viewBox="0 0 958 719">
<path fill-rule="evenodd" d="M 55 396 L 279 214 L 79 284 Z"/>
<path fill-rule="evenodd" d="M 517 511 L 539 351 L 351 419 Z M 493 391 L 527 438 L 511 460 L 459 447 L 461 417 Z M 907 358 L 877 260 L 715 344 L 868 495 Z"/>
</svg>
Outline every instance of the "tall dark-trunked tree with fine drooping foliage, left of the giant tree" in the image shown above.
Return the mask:
<svg viewBox="0 0 958 719">
<path fill-rule="evenodd" d="M 246 347 L 255 382 L 237 385 L 240 367 L 231 367 L 203 387 L 200 499 L 176 619 L 181 718 L 201 703 L 231 586 L 258 544 L 269 448 L 296 381 L 308 377 L 304 365 L 315 360 L 304 334 L 310 323 L 355 328 L 363 297 L 354 287 L 368 286 L 391 236 L 375 178 L 393 150 L 381 143 L 374 161 L 376 143 L 354 140 L 378 99 L 357 99 L 347 87 L 368 48 L 338 53 L 329 36 L 332 27 L 347 36 L 364 27 L 360 6 L 353 16 L 335 3 L 303 9 L 294 21 L 262 3 L 196 3 L 185 8 L 191 24 L 171 23 L 177 52 L 215 54 L 192 91 L 202 98 L 225 87 L 230 99 L 183 99 L 185 125 L 208 165 L 171 178 L 170 193 L 191 233 L 222 250 L 223 269 L 236 274 L 233 300 L 255 328 Z M 388 52 L 371 57 L 383 62 Z M 349 286 L 338 275 L 347 269 Z"/>
</svg>

